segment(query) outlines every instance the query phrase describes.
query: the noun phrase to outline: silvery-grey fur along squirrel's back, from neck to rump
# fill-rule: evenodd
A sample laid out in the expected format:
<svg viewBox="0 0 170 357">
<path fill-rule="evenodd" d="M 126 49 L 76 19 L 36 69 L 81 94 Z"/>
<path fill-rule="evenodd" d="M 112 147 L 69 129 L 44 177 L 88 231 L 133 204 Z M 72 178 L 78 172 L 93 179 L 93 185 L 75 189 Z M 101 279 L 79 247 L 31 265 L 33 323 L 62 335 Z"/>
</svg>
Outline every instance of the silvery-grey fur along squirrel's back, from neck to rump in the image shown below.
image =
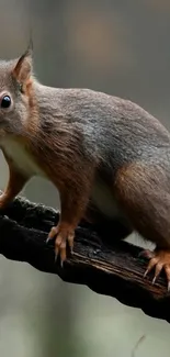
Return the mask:
<svg viewBox="0 0 170 357">
<path fill-rule="evenodd" d="M 57 131 L 56 121 L 58 130 L 60 125 L 68 131 L 73 127 L 81 137 L 82 152 L 99 157 L 107 167 L 116 168 L 134 159 L 161 164 L 165 156 L 170 163 L 168 130 L 136 103 L 90 89 L 56 89 L 38 83 L 37 89 L 46 130 Z M 48 96 L 50 105 L 43 104 L 43 98 L 47 103 Z"/>
</svg>

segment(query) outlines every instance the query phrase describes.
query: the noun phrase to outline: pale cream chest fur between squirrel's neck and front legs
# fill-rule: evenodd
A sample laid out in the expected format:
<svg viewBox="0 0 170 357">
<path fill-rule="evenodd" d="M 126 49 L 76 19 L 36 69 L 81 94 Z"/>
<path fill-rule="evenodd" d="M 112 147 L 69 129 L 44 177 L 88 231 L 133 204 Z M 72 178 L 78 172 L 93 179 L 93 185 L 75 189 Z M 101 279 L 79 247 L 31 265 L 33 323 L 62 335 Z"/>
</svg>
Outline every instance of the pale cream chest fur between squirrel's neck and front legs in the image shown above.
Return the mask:
<svg viewBox="0 0 170 357">
<path fill-rule="evenodd" d="M 34 157 L 26 150 L 24 145 L 13 138 L 3 138 L 0 146 L 4 154 L 13 161 L 13 165 L 27 178 L 32 176 L 45 176 Z"/>
</svg>

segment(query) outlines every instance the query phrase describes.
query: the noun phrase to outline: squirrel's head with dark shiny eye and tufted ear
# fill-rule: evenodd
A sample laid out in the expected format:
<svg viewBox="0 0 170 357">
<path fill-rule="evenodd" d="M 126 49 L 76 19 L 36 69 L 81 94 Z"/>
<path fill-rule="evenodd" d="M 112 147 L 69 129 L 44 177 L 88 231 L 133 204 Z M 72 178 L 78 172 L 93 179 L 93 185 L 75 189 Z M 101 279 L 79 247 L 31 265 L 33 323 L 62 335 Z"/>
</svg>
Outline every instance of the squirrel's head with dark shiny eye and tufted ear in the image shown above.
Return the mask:
<svg viewBox="0 0 170 357">
<path fill-rule="evenodd" d="M 34 110 L 32 48 L 18 59 L 0 62 L 0 137 L 22 134 Z"/>
</svg>

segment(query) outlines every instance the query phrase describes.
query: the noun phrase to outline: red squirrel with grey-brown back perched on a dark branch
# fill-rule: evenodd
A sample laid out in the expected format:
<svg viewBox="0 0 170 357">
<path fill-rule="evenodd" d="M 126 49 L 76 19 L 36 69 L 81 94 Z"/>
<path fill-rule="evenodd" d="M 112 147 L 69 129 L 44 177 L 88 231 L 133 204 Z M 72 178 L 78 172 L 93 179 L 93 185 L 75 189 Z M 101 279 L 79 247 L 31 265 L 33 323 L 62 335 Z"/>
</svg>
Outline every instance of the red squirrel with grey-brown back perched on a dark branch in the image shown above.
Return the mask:
<svg viewBox="0 0 170 357">
<path fill-rule="evenodd" d="M 9 182 L 5 208 L 34 175 L 60 194 L 55 253 L 66 260 L 81 219 L 113 222 L 113 239 L 138 232 L 156 244 L 145 275 L 165 270 L 170 289 L 170 134 L 129 100 L 90 89 L 39 83 L 32 49 L 0 62 L 0 148 Z M 120 232 L 114 232 L 120 224 Z"/>
</svg>

